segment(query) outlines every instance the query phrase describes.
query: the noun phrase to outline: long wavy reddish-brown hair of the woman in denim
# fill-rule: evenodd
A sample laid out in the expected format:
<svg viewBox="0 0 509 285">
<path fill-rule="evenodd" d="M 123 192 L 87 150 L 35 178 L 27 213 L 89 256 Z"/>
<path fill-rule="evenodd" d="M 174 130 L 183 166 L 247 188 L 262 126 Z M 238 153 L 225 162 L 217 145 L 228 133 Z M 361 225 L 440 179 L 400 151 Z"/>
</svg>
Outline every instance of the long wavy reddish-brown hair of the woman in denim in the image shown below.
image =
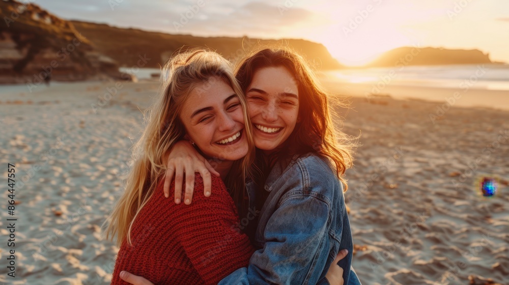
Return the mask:
<svg viewBox="0 0 509 285">
<path fill-rule="evenodd" d="M 330 159 L 337 178 L 348 189 L 343 177 L 345 170 L 353 165 L 353 153 L 357 147 L 351 136 L 334 129 L 333 112 L 329 106 L 329 96 L 320 86 L 314 71 L 305 60 L 288 48 L 265 48 L 254 51 L 236 67 L 235 77 L 244 93 L 247 92 L 254 75 L 262 68 L 284 67 L 297 82 L 299 91 L 299 122 L 279 151 L 271 154 L 270 161 L 288 159 L 294 155 L 309 152 Z M 347 104 L 335 102 L 344 107 Z M 335 115 L 335 114 L 334 114 Z M 334 116 L 334 120 L 340 120 Z"/>
</svg>

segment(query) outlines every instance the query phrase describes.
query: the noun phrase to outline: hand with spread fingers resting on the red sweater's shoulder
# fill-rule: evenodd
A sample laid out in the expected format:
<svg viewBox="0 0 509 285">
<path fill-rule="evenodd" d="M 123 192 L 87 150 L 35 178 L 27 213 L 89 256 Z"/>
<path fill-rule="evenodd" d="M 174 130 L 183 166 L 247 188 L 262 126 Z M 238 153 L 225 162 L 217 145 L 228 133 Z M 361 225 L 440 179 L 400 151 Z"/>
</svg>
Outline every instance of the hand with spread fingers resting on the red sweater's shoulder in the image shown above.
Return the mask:
<svg viewBox="0 0 509 285">
<path fill-rule="evenodd" d="M 187 205 L 191 204 L 194 190 L 194 173 L 196 172 L 200 173 L 203 178 L 205 196 L 210 196 L 212 184 L 210 174 L 219 176 L 219 173 L 191 146 L 189 141 L 178 141 L 166 155 L 166 175 L 163 188 L 166 198 L 169 197 L 170 185 L 175 178 L 175 203 L 180 204 L 182 201 L 182 183 L 185 175 L 184 203 Z"/>
</svg>

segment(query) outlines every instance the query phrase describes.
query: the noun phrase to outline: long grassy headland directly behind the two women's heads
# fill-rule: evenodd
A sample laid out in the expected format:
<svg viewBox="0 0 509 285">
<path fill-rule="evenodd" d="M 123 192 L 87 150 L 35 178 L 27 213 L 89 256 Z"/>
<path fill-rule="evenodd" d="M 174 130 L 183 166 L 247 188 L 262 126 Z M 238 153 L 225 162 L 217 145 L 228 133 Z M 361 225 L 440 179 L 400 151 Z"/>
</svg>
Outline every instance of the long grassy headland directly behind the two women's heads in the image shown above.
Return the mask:
<svg viewBox="0 0 509 285">
<path fill-rule="evenodd" d="M 146 67 L 159 67 L 176 50 L 186 46 L 210 47 L 235 62 L 260 46 L 288 46 L 305 55 L 305 59 L 318 69 L 337 69 L 342 65 L 319 43 L 299 39 L 260 40 L 232 37 L 195 37 L 148 32 L 138 29 L 121 29 L 101 23 L 72 21 L 83 36 L 90 39 L 97 49 L 115 59 L 122 66 L 137 64 L 139 56 L 146 55 L 151 61 Z"/>
</svg>

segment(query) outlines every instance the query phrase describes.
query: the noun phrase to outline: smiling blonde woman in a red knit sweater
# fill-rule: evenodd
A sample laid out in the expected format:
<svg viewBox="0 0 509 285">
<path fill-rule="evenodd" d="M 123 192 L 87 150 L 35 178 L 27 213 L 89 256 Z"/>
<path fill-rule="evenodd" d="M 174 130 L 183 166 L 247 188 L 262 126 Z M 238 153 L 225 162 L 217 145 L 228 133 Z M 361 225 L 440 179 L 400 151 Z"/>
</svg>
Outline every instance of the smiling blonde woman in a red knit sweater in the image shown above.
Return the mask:
<svg viewBox="0 0 509 285">
<path fill-rule="evenodd" d="M 233 199 L 242 193 L 235 185 L 244 185 L 253 153 L 246 102 L 232 67 L 215 52 L 194 50 L 175 56 L 166 68 L 164 90 L 150 109 L 125 193 L 107 226 L 120 246 L 112 284 L 125 283 L 122 270 L 161 284 L 214 284 L 246 266 L 253 252 L 248 238 L 231 230 L 238 222 Z M 184 138 L 206 157 L 223 154 L 213 193 L 195 200 L 192 209 L 162 196 L 163 154 Z M 203 189 L 199 178 L 195 189 Z"/>
</svg>

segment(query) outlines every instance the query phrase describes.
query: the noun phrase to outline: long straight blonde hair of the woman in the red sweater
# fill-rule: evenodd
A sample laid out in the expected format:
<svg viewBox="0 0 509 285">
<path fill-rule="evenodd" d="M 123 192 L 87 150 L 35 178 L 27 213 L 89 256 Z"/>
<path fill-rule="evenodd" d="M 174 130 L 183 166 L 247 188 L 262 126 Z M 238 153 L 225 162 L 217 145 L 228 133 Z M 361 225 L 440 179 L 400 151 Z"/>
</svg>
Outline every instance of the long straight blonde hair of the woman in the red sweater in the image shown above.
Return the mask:
<svg viewBox="0 0 509 285">
<path fill-rule="evenodd" d="M 179 119 L 179 114 L 191 91 L 200 83 L 217 77 L 229 84 L 238 95 L 244 111 L 244 134 L 248 140 L 249 151 L 243 159 L 234 162 L 228 175 L 236 178 L 232 184 L 244 185 L 245 176 L 251 169 L 254 153 L 251 123 L 245 96 L 235 79 L 231 63 L 215 52 L 191 49 L 173 56 L 163 67 L 162 76 L 164 77 L 162 90 L 154 104 L 147 109 L 144 116 L 145 131 L 133 146 L 134 165 L 127 176 L 125 192 L 104 222 L 106 238 L 113 239 L 118 235 L 119 246 L 125 238 L 128 244 L 132 244 L 130 233 L 134 219 L 163 179 L 162 175 L 166 171 L 163 155 L 172 149 L 177 141 L 184 139 L 186 131 Z M 236 192 L 234 196 L 240 199 L 238 192 L 241 189 L 237 188 L 237 191 L 235 187 L 229 187 L 229 189 Z"/>
</svg>

